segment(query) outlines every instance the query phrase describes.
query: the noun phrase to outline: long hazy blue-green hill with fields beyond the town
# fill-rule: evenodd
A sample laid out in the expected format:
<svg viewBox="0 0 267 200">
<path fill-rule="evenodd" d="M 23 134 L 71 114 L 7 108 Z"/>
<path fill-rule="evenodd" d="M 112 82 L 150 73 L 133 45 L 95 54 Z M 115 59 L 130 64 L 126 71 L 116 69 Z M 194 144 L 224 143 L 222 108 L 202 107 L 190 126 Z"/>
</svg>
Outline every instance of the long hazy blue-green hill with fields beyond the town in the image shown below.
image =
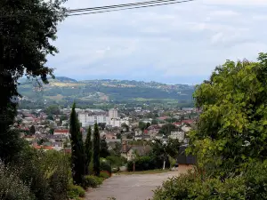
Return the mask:
<svg viewBox="0 0 267 200">
<path fill-rule="evenodd" d="M 85 80 L 57 76 L 49 84 L 20 81 L 19 92 L 25 100 L 56 102 L 191 102 L 195 88 L 187 84 L 160 84 L 128 80 Z"/>
</svg>

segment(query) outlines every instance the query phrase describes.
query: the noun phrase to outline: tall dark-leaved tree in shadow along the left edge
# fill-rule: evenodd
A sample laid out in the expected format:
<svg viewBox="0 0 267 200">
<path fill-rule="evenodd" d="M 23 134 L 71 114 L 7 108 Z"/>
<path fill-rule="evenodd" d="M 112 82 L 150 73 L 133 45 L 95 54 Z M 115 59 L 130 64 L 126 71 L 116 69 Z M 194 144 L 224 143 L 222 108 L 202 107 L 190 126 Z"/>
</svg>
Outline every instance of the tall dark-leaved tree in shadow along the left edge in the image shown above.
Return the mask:
<svg viewBox="0 0 267 200">
<path fill-rule="evenodd" d="M 0 1 L 0 158 L 4 161 L 19 150 L 19 137 L 9 130 L 16 115 L 19 78 L 40 76 L 47 83 L 47 75 L 53 75 L 45 63 L 47 55 L 58 52 L 51 41 L 64 18 L 62 2 Z"/>
</svg>

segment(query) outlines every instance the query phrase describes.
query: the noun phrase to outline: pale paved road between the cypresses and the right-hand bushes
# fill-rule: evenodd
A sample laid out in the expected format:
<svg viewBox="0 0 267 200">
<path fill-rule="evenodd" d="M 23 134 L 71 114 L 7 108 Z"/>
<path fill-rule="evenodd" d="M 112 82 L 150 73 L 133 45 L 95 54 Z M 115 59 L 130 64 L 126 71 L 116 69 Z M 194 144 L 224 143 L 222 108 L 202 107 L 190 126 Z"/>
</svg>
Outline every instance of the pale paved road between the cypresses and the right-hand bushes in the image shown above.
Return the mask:
<svg viewBox="0 0 267 200">
<path fill-rule="evenodd" d="M 186 172 L 188 167 L 179 167 L 178 171 L 158 174 L 117 175 L 105 180 L 100 188 L 89 191 L 86 200 L 147 200 L 153 196 L 152 190 L 162 181 Z"/>
</svg>

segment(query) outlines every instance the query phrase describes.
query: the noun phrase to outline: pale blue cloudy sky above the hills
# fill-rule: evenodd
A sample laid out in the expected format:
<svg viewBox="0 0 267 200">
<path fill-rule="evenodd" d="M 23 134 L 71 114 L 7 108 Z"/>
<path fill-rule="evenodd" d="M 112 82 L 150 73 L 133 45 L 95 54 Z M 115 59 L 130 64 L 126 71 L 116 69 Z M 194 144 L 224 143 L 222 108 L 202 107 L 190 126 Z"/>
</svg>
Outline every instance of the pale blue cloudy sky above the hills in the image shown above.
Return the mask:
<svg viewBox="0 0 267 200">
<path fill-rule="evenodd" d="M 69 9 L 135 0 L 69 0 Z M 55 76 L 199 84 L 225 60 L 267 52 L 267 0 L 196 0 L 69 17 L 48 58 Z"/>
</svg>

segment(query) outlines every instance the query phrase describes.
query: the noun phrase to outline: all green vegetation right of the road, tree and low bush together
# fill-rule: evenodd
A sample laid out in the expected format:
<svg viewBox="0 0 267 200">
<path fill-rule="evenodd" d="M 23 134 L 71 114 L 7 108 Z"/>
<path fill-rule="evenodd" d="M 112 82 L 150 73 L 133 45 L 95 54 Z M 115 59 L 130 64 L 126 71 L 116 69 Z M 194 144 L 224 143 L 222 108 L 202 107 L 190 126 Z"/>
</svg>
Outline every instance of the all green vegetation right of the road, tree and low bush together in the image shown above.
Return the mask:
<svg viewBox="0 0 267 200">
<path fill-rule="evenodd" d="M 190 132 L 194 171 L 167 180 L 155 200 L 267 199 L 267 54 L 256 62 L 227 60 L 198 85 L 203 110 Z"/>
</svg>

